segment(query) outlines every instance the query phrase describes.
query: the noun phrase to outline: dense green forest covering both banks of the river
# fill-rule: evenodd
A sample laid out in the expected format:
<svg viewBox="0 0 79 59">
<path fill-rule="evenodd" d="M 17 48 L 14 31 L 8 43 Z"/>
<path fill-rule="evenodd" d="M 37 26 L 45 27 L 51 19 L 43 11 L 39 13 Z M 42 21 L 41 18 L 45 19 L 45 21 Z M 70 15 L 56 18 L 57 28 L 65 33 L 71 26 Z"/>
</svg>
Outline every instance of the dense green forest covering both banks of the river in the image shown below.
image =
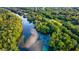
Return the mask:
<svg viewBox="0 0 79 59">
<path fill-rule="evenodd" d="M 29 22 L 35 25 L 35 29 L 38 32 L 49 34 L 51 37 L 49 40 L 49 51 L 79 50 L 79 8 L 20 7 L 6 9 L 19 15 L 24 15 L 24 17 L 28 18 Z M 19 18 L 9 11 L 0 9 L 0 49 L 17 49 L 15 38 L 20 36 L 19 33 L 21 31 L 21 21 Z M 4 44 L 6 41 L 7 43 Z M 10 44 L 11 46 L 9 46 Z M 15 47 L 12 48 L 12 46 Z"/>
</svg>

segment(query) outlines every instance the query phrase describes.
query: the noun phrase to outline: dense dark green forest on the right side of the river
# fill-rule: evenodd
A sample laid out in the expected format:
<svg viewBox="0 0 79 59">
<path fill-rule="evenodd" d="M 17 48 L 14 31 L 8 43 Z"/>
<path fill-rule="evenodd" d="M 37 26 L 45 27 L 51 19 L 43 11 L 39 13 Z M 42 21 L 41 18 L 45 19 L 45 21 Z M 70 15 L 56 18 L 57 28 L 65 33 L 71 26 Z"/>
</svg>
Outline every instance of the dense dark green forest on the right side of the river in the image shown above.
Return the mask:
<svg viewBox="0 0 79 59">
<path fill-rule="evenodd" d="M 79 8 L 15 7 L 5 9 L 23 15 L 25 18 L 27 17 L 27 20 L 34 24 L 36 31 L 42 34 L 49 34 L 49 51 L 79 51 Z M 6 19 L 7 17 L 3 18 Z M 15 19 L 17 17 L 13 18 Z M 2 21 L 2 18 L 0 21 Z M 4 23 L 6 24 L 5 21 Z M 20 22 L 17 21 L 17 23 Z M 1 24 L 1 26 L 2 25 L 4 24 Z M 5 44 L 2 45 L 5 47 Z M 2 47 L 2 45 L 0 45 L 0 47 Z M 14 50 L 14 48 L 12 49 Z M 3 48 L 2 50 L 6 49 Z"/>
</svg>

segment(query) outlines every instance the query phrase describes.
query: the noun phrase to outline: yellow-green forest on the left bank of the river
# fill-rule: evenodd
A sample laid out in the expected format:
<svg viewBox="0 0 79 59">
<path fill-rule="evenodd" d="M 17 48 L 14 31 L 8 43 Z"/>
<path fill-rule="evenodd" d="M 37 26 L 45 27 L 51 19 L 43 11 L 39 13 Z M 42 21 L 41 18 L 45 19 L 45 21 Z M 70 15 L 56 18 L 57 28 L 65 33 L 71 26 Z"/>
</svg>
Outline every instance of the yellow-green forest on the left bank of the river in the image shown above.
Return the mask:
<svg viewBox="0 0 79 59">
<path fill-rule="evenodd" d="M 21 19 L 12 12 L 0 8 L 0 50 L 19 50 L 17 44 L 21 33 Z"/>
</svg>

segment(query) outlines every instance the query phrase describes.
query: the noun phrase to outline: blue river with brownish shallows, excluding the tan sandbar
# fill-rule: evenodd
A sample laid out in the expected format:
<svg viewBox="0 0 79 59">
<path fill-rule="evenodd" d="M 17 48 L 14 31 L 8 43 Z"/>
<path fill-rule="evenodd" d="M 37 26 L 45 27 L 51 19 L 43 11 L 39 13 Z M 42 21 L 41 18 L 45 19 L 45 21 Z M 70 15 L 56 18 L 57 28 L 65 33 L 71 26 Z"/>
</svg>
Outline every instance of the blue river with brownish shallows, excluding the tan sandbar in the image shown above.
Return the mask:
<svg viewBox="0 0 79 59">
<path fill-rule="evenodd" d="M 18 14 L 16 14 L 19 16 Z M 29 40 L 29 37 L 32 35 L 31 30 L 35 29 L 34 24 L 30 23 L 27 18 L 24 18 L 23 16 L 19 16 L 22 19 L 22 27 L 23 27 L 23 32 L 22 32 L 22 37 L 20 39 L 20 44 L 19 44 L 19 49 L 20 51 L 26 51 L 26 48 L 23 48 L 22 45 Z M 35 30 L 36 31 L 36 30 Z M 36 31 L 37 32 L 37 31 Z M 32 47 L 29 48 L 29 51 L 48 51 L 48 41 L 50 39 L 49 35 L 41 34 L 37 32 L 38 34 L 38 39 L 37 41 L 33 44 Z"/>
</svg>

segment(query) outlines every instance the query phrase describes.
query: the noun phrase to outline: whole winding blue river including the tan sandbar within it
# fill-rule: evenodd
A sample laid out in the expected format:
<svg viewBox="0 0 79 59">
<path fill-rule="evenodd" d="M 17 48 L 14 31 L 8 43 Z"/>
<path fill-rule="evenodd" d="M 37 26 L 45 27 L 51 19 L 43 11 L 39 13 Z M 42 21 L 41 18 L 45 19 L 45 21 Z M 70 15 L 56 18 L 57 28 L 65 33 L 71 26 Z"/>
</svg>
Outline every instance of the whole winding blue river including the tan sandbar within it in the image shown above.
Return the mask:
<svg viewBox="0 0 79 59">
<path fill-rule="evenodd" d="M 21 18 L 22 18 L 23 33 L 22 33 L 22 37 L 20 40 L 20 44 L 19 44 L 20 50 L 21 51 L 26 51 L 26 50 L 47 51 L 48 41 L 50 39 L 50 36 L 38 33 L 34 29 L 33 23 L 29 23 L 27 21 L 27 18 L 23 18 L 23 17 Z"/>
</svg>

